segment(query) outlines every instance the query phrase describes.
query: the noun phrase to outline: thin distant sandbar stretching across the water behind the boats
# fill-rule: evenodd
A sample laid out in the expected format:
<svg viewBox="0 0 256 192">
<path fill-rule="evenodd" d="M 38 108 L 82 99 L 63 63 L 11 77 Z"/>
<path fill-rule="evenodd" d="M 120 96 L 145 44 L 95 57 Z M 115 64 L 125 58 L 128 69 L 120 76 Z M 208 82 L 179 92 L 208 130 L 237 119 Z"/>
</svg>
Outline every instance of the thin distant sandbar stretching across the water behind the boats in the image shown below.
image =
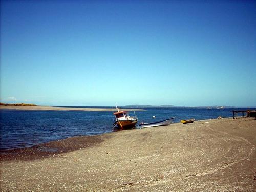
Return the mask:
<svg viewBox="0 0 256 192">
<path fill-rule="evenodd" d="M 1 109 L 8 110 L 54 110 L 54 111 L 117 111 L 116 108 L 67 108 L 60 106 L 0 106 Z M 119 110 L 123 111 L 145 111 L 143 109 L 124 109 L 121 108 Z"/>
</svg>

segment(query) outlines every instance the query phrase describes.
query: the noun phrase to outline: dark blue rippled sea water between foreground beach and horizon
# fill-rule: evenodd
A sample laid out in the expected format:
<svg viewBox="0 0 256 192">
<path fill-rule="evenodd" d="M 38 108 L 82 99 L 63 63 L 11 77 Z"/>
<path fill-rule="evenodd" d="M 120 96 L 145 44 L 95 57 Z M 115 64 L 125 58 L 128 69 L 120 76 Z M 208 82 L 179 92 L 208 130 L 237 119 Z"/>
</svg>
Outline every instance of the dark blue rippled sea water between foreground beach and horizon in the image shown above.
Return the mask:
<svg viewBox="0 0 256 192">
<path fill-rule="evenodd" d="M 231 117 L 235 109 L 148 108 L 137 111 L 139 122 L 154 122 L 170 117 L 196 120 Z M 134 115 L 134 112 L 130 112 Z M 156 116 L 155 119 L 152 116 Z M 19 111 L 0 110 L 0 149 L 29 147 L 35 144 L 79 135 L 112 132 L 113 112 Z"/>
</svg>

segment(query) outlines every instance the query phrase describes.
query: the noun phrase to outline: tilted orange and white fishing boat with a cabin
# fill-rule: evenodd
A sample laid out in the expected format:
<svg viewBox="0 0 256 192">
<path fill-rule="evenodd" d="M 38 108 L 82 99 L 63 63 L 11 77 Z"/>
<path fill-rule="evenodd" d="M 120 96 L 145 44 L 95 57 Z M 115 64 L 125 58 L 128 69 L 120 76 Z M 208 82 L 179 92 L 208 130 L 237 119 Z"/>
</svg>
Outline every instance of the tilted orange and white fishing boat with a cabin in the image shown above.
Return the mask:
<svg viewBox="0 0 256 192">
<path fill-rule="evenodd" d="M 136 116 L 129 116 L 129 113 L 126 111 L 119 111 L 113 113 L 115 115 L 115 123 L 113 124 L 113 129 L 133 129 L 138 122 L 138 118 Z"/>
</svg>

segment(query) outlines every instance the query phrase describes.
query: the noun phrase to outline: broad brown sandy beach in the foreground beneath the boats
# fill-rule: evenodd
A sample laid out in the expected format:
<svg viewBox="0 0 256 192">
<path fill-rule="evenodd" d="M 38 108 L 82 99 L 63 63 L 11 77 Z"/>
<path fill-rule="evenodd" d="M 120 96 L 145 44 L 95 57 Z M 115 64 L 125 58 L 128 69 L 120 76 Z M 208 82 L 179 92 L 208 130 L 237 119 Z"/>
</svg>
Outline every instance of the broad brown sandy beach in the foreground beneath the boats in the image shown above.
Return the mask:
<svg viewBox="0 0 256 192">
<path fill-rule="evenodd" d="M 2 191 L 255 191 L 256 120 L 73 137 L 1 152 Z"/>
</svg>

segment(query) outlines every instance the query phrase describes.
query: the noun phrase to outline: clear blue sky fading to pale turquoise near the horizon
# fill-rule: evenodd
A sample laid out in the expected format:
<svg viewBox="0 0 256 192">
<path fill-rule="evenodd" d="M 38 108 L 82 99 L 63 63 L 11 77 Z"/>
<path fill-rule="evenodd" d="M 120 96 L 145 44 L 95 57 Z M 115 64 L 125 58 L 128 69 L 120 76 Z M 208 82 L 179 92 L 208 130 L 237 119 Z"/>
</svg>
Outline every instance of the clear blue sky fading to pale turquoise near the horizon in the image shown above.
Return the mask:
<svg viewBox="0 0 256 192">
<path fill-rule="evenodd" d="M 1 1 L 1 102 L 256 106 L 255 1 Z"/>
</svg>

